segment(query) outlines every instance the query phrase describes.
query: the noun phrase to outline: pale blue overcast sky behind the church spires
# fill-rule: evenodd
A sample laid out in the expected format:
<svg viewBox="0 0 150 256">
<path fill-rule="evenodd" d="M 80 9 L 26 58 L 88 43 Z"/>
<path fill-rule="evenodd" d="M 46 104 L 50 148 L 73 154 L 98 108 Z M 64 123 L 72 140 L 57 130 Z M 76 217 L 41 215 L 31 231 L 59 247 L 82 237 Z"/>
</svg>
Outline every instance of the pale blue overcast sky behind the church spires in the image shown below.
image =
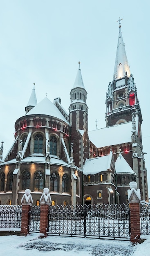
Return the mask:
<svg viewBox="0 0 150 256">
<path fill-rule="evenodd" d="M 119 17 L 143 116 L 150 188 L 150 1 L 0 0 L 0 141 L 4 155 L 15 121 L 25 115 L 33 83 L 38 102 L 60 97 L 68 111 L 81 61 L 89 130 L 105 127 L 105 93 L 113 79 Z M 113 136 L 113 135 L 112 135 Z M 150 193 L 150 189 L 149 189 Z"/>
</svg>

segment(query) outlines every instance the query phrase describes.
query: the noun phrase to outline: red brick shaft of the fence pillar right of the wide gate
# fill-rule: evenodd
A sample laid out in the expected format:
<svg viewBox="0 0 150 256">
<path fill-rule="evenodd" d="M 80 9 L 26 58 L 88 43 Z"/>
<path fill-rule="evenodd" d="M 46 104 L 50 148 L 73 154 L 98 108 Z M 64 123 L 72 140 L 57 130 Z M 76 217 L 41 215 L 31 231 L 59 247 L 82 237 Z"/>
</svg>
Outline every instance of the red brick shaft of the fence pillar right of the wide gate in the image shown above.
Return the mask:
<svg viewBox="0 0 150 256">
<path fill-rule="evenodd" d="M 132 243 L 139 243 L 141 240 L 141 228 L 140 228 L 140 205 L 139 202 L 131 203 L 130 202 L 130 228 L 131 228 L 131 237 L 130 241 Z"/>
</svg>

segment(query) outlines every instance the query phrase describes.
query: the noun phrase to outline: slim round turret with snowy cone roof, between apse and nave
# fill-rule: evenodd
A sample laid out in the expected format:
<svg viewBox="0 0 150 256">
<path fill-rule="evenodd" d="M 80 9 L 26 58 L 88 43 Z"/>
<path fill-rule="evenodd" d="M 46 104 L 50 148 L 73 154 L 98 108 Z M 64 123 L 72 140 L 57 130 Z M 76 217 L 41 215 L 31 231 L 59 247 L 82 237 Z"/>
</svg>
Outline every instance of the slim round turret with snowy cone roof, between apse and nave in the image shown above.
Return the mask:
<svg viewBox="0 0 150 256">
<path fill-rule="evenodd" d="M 88 107 L 87 91 L 83 83 L 80 62 L 74 86 L 70 92 L 69 123 L 71 128 L 71 143 L 75 164 L 83 168 L 86 158 L 89 158 L 90 141 L 88 137 Z"/>
</svg>

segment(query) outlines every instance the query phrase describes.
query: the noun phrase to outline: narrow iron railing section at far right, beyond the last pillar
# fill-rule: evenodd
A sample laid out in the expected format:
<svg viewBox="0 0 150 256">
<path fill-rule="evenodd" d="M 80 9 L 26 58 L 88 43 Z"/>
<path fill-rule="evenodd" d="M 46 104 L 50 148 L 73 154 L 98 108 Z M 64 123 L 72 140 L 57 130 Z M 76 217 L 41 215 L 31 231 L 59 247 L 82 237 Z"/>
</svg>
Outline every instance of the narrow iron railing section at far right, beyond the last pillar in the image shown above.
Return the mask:
<svg viewBox="0 0 150 256">
<path fill-rule="evenodd" d="M 141 234 L 150 234 L 150 204 L 141 204 Z"/>
</svg>

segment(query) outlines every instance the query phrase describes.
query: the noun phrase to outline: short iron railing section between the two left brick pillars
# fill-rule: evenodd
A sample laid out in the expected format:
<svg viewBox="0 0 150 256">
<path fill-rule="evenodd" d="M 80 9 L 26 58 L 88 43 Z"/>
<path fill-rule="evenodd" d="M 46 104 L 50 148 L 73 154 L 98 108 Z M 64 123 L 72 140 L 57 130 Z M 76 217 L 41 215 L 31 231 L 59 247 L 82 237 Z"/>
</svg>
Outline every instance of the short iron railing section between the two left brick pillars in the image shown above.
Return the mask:
<svg viewBox="0 0 150 256">
<path fill-rule="evenodd" d="M 40 206 L 31 206 L 29 211 L 29 233 L 40 231 Z"/>
</svg>

